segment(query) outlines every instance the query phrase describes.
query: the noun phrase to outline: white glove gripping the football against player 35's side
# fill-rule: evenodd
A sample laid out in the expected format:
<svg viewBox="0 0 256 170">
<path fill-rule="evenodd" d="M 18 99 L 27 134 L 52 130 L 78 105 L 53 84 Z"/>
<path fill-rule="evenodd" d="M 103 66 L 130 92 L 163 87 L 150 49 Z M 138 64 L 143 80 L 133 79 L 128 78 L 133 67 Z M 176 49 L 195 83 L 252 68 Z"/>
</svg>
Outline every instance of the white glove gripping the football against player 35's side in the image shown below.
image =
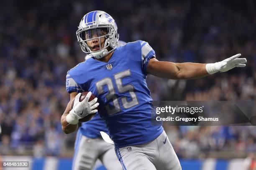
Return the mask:
<svg viewBox="0 0 256 170">
<path fill-rule="evenodd" d="M 92 113 L 96 113 L 98 110 L 95 109 L 98 107 L 99 103 L 97 102 L 97 97 L 89 102 L 89 99 L 92 95 L 92 92 L 88 92 L 82 102 L 79 102 L 79 98 L 82 93 L 78 93 L 74 100 L 74 106 L 70 110 L 69 114 L 66 117 L 66 121 L 69 124 L 76 125 L 78 120 Z"/>
</svg>

